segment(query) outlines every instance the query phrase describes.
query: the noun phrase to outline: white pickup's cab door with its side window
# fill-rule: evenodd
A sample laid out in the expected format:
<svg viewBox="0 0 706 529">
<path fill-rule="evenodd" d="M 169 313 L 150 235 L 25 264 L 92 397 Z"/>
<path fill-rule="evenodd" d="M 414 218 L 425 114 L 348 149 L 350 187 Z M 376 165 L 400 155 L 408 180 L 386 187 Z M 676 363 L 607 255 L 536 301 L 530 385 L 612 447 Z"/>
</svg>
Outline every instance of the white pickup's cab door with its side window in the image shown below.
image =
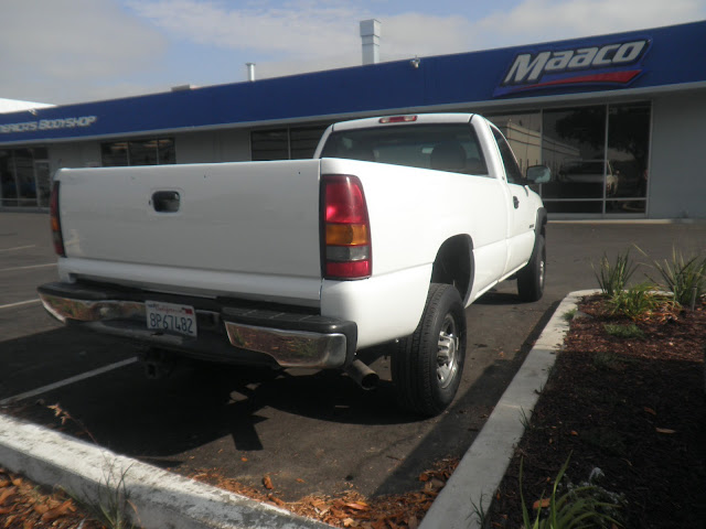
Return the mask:
<svg viewBox="0 0 706 529">
<path fill-rule="evenodd" d="M 534 246 L 535 212 L 530 201 L 530 191 L 524 185 L 524 177 L 517 160 L 515 159 L 507 140 L 495 127 L 491 127 L 493 137 L 498 142 L 498 149 L 505 169 L 507 181 L 506 199 L 510 207 L 507 218 L 507 261 L 505 272 L 511 272 L 521 267 L 532 255 Z"/>
</svg>

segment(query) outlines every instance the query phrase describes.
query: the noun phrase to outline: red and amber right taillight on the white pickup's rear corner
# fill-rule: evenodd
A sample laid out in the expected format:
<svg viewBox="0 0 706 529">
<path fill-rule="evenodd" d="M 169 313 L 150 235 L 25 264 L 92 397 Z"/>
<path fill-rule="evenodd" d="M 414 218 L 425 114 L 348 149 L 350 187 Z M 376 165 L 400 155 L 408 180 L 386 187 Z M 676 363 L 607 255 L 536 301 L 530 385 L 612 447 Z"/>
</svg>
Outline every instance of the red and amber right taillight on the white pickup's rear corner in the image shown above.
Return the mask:
<svg viewBox="0 0 706 529">
<path fill-rule="evenodd" d="M 356 176 L 327 174 L 321 177 L 321 186 L 323 276 L 371 277 L 371 228 L 361 181 Z"/>
</svg>

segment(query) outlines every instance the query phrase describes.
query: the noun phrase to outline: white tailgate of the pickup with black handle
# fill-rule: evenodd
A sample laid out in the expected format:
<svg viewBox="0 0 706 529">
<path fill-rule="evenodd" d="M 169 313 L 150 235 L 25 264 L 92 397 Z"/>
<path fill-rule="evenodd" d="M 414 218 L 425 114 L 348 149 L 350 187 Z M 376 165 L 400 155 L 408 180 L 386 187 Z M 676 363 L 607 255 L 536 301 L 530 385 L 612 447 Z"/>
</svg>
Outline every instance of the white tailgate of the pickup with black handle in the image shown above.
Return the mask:
<svg viewBox="0 0 706 529">
<path fill-rule="evenodd" d="M 140 287 L 153 290 L 318 300 L 319 165 L 296 160 L 62 170 L 68 259 L 60 272 L 129 283 L 137 272 Z M 179 199 L 169 204 L 174 193 Z M 291 284 L 275 288 L 277 282 Z"/>
</svg>

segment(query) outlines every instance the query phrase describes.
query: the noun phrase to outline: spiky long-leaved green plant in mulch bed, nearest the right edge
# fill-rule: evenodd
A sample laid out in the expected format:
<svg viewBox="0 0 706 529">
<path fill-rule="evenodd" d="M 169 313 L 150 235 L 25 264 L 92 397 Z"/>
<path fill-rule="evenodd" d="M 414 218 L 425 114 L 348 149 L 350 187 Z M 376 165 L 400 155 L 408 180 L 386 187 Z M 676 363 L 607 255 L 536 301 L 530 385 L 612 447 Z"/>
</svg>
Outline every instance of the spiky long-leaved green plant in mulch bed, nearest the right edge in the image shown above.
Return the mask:
<svg viewBox="0 0 706 529">
<path fill-rule="evenodd" d="M 671 262 L 665 259 L 664 263 L 653 263 L 677 303 L 692 305 L 706 293 L 706 257 L 694 256 L 686 259 L 673 248 Z"/>
</svg>

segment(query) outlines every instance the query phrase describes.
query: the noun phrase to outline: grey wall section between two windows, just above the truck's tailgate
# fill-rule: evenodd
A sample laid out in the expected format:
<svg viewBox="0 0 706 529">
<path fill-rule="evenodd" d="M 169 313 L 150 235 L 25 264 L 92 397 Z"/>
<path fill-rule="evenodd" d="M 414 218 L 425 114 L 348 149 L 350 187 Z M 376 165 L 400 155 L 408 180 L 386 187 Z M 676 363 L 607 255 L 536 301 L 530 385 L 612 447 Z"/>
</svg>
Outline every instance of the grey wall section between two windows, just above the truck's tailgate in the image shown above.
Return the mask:
<svg viewBox="0 0 706 529">
<path fill-rule="evenodd" d="M 249 161 L 249 134 L 246 129 L 175 134 L 176 163 Z"/>
</svg>

